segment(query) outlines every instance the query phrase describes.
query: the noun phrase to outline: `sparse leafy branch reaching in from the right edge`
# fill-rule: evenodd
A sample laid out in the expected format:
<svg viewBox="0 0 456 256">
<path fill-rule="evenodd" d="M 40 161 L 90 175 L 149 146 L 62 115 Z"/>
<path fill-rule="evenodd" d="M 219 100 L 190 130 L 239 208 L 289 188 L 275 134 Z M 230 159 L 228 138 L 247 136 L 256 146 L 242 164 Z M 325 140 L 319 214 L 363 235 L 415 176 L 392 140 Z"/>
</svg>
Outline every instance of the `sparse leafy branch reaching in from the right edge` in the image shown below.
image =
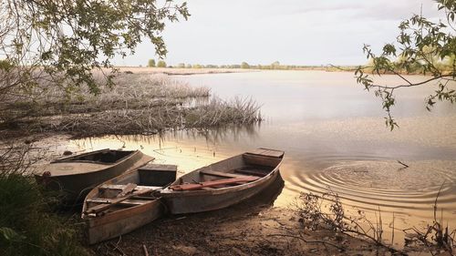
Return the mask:
<svg viewBox="0 0 456 256">
<path fill-rule="evenodd" d="M 435 90 L 425 99 L 425 108 L 431 110 L 439 101 L 456 101 L 456 1 L 438 0 L 439 10 L 445 12 L 446 20 L 433 23 L 422 15 L 413 15 L 400 23 L 399 36 L 393 44 L 383 46 L 379 55 L 365 45 L 363 51 L 371 65 L 360 66 L 355 72 L 358 84 L 374 91 L 382 100 L 386 111 L 385 123 L 391 130 L 399 127 L 391 110 L 396 104 L 395 90 L 405 87 L 430 86 Z M 398 76 L 403 85 L 379 85 L 375 77 Z M 430 76 L 420 82 L 411 82 L 405 74 Z"/>
</svg>

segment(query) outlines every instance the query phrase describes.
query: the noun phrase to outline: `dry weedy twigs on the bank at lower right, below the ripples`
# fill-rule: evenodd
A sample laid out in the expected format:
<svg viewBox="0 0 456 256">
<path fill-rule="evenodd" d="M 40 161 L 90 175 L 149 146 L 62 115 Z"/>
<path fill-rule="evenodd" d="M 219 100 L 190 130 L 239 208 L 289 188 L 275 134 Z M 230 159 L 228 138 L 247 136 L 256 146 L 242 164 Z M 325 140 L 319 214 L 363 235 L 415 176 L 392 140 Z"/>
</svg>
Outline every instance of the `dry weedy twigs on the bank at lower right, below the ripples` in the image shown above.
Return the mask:
<svg viewBox="0 0 456 256">
<path fill-rule="evenodd" d="M 443 217 L 440 216 L 439 218 L 437 216 L 439 196 L 440 190 L 433 206 L 434 220 L 432 224 L 428 224 L 425 230 L 420 230 L 416 227 L 402 230 L 406 233 L 404 241 L 405 249 L 416 251 L 417 249 L 413 248 L 413 245 L 415 245 L 424 246 L 425 250 L 427 249 L 431 255 L 442 255 L 440 254 L 441 252 L 446 252 L 448 255 L 455 254 L 456 230 L 451 231 L 448 225 L 445 226 L 443 224 Z M 313 193 L 301 193 L 299 200 L 295 203 L 295 210 L 300 220 L 309 229 L 316 230 L 323 228 L 337 230 L 372 241 L 379 247 L 390 251 L 391 254 L 407 255 L 405 249 L 398 250 L 393 248 L 395 231 L 394 213 L 391 243 L 387 244 L 383 240 L 383 220 L 379 207 L 378 211 L 375 212 L 376 220 L 374 221 L 369 220 L 362 210 L 358 210 L 357 213 L 348 216 L 338 195 L 329 190 L 320 196 Z"/>
</svg>

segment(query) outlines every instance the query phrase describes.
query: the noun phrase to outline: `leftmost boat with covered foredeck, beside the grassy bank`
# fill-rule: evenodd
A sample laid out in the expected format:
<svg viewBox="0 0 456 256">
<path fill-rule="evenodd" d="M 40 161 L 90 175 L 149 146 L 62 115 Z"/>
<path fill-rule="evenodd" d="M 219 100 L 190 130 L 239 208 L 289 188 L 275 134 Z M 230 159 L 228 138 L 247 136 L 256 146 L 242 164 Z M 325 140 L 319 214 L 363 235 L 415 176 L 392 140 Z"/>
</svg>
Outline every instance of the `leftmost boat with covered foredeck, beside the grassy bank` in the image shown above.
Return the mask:
<svg viewBox="0 0 456 256">
<path fill-rule="evenodd" d="M 153 159 L 139 150 L 101 149 L 52 161 L 38 169 L 35 178 L 47 189 L 62 191 L 64 201 L 76 202 L 84 199 L 88 191 L 101 182 L 139 168 Z"/>
</svg>

